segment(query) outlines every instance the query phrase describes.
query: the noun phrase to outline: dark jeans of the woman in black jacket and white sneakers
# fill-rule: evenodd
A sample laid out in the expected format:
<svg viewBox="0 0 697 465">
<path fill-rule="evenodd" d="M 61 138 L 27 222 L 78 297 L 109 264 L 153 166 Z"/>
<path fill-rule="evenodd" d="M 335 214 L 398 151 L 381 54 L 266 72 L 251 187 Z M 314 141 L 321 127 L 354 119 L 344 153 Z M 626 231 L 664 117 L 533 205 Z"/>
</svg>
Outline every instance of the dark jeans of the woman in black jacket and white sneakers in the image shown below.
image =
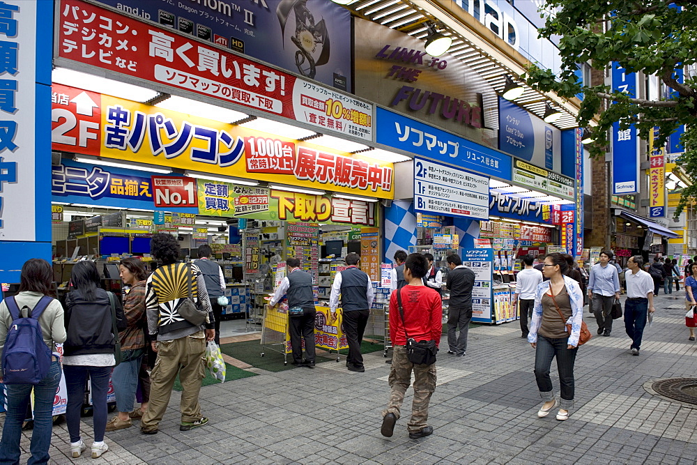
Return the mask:
<svg viewBox="0 0 697 465">
<path fill-rule="evenodd" d="M 92 429 L 94 441 L 104 441 L 104 432 L 107 429 L 107 390 L 109 389 L 109 376 L 113 367 L 87 367 L 82 365 L 65 365 L 63 372 L 66 374 L 66 388 L 68 388 L 68 406 L 66 406 L 66 422 L 70 433 L 70 442 L 77 443 L 80 440 L 80 413 L 85 397 L 85 384 L 87 374 L 92 386 Z"/>
</svg>

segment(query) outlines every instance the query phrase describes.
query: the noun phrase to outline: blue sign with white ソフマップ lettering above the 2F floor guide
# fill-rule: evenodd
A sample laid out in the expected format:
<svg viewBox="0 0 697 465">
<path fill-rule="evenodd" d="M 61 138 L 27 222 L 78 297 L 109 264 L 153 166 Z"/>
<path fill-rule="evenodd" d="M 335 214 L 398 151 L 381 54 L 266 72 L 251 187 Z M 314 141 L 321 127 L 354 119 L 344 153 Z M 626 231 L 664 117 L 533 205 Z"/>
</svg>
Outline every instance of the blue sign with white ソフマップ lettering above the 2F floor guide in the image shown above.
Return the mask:
<svg viewBox="0 0 697 465">
<path fill-rule="evenodd" d="M 376 142 L 510 181 L 510 155 L 406 116 L 376 108 Z"/>
</svg>

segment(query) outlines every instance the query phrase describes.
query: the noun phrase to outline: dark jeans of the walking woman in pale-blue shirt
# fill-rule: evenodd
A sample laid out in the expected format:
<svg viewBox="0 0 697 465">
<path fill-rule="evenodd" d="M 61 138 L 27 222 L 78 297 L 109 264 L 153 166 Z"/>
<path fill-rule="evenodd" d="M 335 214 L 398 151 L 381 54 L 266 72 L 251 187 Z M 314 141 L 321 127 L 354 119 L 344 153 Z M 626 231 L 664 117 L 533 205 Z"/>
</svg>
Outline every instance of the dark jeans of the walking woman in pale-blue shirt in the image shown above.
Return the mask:
<svg viewBox="0 0 697 465">
<path fill-rule="evenodd" d="M 557 371 L 559 372 L 559 407 L 564 410 L 574 406 L 574 362 L 576 361 L 576 352 L 579 350 L 578 347 L 569 349 L 568 344 L 568 337 L 548 339 L 542 335 L 537 335 L 537 350 L 535 350 L 535 380 L 537 388 L 539 388 L 539 396 L 545 402 L 554 399 L 549 369 L 552 365 L 552 358 L 556 356 Z"/>
</svg>

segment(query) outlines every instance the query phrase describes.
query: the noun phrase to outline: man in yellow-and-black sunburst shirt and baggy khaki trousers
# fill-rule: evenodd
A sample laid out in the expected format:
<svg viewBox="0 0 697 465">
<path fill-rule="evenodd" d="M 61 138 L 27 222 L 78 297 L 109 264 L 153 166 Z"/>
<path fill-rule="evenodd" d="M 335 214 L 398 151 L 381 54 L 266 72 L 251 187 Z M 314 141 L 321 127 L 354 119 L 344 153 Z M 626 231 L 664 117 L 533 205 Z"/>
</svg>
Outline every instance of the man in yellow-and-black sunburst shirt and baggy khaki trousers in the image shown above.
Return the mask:
<svg viewBox="0 0 697 465">
<path fill-rule="evenodd" d="M 151 255 L 162 262 L 146 280 L 146 315 L 151 346 L 158 353 L 151 372 L 150 404 L 141 418 L 143 434 L 157 434 L 167 411 L 177 374 L 181 383 L 180 431 L 204 426 L 208 418 L 201 416 L 199 392 L 204 379 L 206 340 L 215 339 L 215 317 L 210 308 L 206 281 L 194 265 L 177 263 L 179 243 L 166 233 L 153 235 Z M 202 323 L 187 320 L 180 311 L 196 307 L 205 312 Z M 189 312 L 186 312 L 192 318 Z"/>
</svg>

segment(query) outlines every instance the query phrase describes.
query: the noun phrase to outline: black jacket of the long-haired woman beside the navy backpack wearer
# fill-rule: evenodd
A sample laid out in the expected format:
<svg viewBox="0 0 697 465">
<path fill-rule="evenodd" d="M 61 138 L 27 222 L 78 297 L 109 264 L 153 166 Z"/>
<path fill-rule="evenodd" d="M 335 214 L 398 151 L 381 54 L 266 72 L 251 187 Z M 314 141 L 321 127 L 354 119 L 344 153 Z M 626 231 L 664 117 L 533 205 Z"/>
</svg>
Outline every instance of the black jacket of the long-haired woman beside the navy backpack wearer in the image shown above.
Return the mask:
<svg viewBox="0 0 697 465">
<path fill-rule="evenodd" d="M 114 300 L 116 327 L 124 330 L 126 323 L 123 308 L 118 298 Z M 70 291 L 66 297 L 66 333 L 68 339 L 63 344 L 66 356 L 114 352 L 112 308 L 107 291 L 97 289 L 96 298 L 91 302 L 84 300 L 80 291 Z"/>
</svg>

